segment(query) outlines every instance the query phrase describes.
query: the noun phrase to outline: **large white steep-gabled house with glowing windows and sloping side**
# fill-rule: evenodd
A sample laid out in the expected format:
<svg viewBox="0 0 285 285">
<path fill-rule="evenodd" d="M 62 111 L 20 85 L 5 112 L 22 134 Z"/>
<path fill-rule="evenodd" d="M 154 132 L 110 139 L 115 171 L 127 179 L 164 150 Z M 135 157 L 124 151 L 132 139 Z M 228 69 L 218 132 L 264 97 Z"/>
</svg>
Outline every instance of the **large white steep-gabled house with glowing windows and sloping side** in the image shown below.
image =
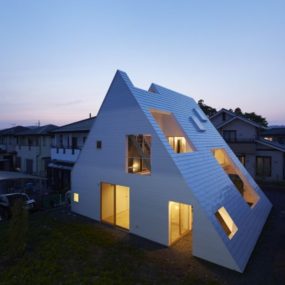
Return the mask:
<svg viewBox="0 0 285 285">
<path fill-rule="evenodd" d="M 118 71 L 72 170 L 72 210 L 243 272 L 271 203 L 195 101 Z"/>
</svg>

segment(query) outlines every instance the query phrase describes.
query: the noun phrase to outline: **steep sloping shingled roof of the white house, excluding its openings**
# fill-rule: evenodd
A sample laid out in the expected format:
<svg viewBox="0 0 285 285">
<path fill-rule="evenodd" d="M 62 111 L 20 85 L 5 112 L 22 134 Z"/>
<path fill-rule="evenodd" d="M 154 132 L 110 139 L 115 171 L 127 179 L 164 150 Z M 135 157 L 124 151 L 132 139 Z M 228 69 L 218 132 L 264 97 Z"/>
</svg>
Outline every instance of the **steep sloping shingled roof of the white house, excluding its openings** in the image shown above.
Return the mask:
<svg viewBox="0 0 285 285">
<path fill-rule="evenodd" d="M 217 164 L 217 161 L 211 155 L 211 151 L 215 148 L 223 148 L 230 154 L 235 165 L 239 165 L 240 162 L 208 119 L 205 121 L 200 120 L 202 128 L 195 125 L 195 120 L 193 120 L 197 115 L 195 110 L 201 111 L 201 109 L 192 98 L 154 83 L 151 84 L 149 91 L 145 91 L 134 87 L 127 74 L 120 72 L 120 75 L 125 80 L 126 85 L 137 100 L 164 147 L 168 150 L 169 156 L 175 163 L 183 180 L 191 189 L 195 199 L 197 199 L 199 206 L 207 216 L 208 222 L 215 228 L 212 233 L 212 239 L 214 239 L 214 235 L 219 235 L 219 238 L 216 239 L 217 242 L 222 241 L 219 250 L 223 254 L 228 253 L 231 256 L 229 260 L 235 263 L 235 265 L 232 264 L 231 266 L 234 266 L 236 270 L 243 271 L 260 234 L 264 219 L 267 217 L 268 209 L 271 207 L 270 202 L 242 167 L 239 168 L 239 171 L 246 177 L 259 197 L 262 197 L 260 203 L 255 205 L 255 213 L 258 211 L 257 216 L 252 215 L 250 212 L 253 210 L 247 208 L 244 202 L 239 200 L 235 186 Z M 195 151 L 184 153 L 183 155 L 174 153 L 167 138 L 150 112 L 153 109 L 173 114 L 187 138 L 190 139 L 195 147 Z M 261 127 L 239 116 L 236 116 L 236 119 L 259 128 Z M 220 232 L 220 227 L 217 226 L 214 212 L 221 206 L 229 209 L 232 217 L 239 225 L 236 239 L 229 240 Z M 262 212 L 262 207 L 267 208 L 267 210 Z M 245 215 L 247 216 L 246 222 Z"/>
</svg>

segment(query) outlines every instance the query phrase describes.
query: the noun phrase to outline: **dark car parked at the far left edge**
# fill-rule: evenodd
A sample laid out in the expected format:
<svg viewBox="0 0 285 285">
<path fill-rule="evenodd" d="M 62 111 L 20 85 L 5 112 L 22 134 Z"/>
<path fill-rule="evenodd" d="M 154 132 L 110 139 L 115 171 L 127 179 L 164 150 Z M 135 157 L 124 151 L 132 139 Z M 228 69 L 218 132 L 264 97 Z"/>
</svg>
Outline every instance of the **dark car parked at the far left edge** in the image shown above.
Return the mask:
<svg viewBox="0 0 285 285">
<path fill-rule="evenodd" d="M 24 208 L 31 211 L 35 208 L 35 200 L 30 199 L 25 193 L 11 193 L 0 195 L 0 221 L 9 219 L 12 214 L 12 207 L 17 200 L 24 203 Z"/>
</svg>

